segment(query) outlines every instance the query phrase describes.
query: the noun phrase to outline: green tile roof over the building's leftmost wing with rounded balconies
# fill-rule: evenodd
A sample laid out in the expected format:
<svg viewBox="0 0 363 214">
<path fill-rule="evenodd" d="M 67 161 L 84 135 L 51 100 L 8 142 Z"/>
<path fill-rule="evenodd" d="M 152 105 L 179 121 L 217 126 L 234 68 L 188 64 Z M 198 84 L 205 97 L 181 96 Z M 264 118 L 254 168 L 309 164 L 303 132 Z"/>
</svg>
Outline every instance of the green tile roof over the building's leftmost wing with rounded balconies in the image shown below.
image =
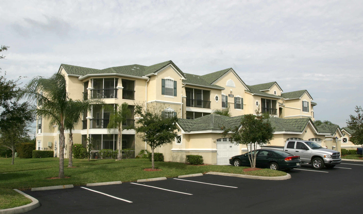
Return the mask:
<svg viewBox="0 0 363 214">
<path fill-rule="evenodd" d="M 66 65 L 66 64 L 61 64 L 61 67 L 63 67 L 64 70 L 68 74 L 76 75 L 76 76 L 85 76 L 87 74 L 116 73 L 116 74 L 143 77 L 147 74 L 157 73 L 162 68 L 164 68 L 165 66 L 167 66 L 169 64 L 174 66 L 174 68 L 185 78 L 184 73 L 171 60 L 161 62 L 161 63 L 155 64 L 155 65 L 150 65 L 150 66 L 133 64 L 133 65 L 116 66 L 116 67 L 105 68 L 105 69 L 85 68 L 85 67 Z"/>
</svg>

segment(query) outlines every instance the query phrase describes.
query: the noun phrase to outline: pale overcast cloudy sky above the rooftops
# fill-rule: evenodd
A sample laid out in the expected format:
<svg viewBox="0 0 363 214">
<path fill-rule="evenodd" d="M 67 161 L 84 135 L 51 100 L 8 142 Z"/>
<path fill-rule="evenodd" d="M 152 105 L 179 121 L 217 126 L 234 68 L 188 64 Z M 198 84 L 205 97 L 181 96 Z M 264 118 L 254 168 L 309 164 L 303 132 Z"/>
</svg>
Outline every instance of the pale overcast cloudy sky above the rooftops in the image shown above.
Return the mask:
<svg viewBox="0 0 363 214">
<path fill-rule="evenodd" d="M 363 106 L 363 1 L 1 0 L 0 14 L 8 78 L 172 60 L 307 89 L 315 118 L 340 127 Z"/>
</svg>

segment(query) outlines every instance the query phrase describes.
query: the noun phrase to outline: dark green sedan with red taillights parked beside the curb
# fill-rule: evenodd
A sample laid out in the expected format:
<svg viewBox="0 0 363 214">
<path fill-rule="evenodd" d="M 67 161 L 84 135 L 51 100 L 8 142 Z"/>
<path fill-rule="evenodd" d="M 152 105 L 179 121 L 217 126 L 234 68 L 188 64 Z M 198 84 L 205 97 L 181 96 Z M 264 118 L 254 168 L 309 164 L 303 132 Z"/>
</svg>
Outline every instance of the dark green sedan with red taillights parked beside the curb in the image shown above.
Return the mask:
<svg viewBox="0 0 363 214">
<path fill-rule="evenodd" d="M 300 156 L 293 156 L 292 154 L 276 149 L 257 149 L 256 152 L 256 167 L 258 168 L 290 170 L 301 167 Z M 253 154 L 254 151 L 252 151 Z M 250 166 L 247 153 L 231 157 L 229 163 L 233 166 Z"/>
</svg>

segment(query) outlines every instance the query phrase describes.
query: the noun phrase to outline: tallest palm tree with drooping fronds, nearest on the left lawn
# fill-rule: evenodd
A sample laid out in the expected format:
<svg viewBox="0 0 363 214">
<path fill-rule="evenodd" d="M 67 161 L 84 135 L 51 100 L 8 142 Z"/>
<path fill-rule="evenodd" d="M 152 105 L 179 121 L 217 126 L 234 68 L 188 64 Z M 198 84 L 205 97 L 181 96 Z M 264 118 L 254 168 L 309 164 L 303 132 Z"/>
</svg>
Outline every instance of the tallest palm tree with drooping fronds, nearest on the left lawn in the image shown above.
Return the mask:
<svg viewBox="0 0 363 214">
<path fill-rule="evenodd" d="M 32 110 L 40 117 L 54 121 L 59 130 L 59 174 L 64 178 L 64 122 L 69 105 L 66 80 L 63 74 L 55 73 L 49 78 L 34 77 L 20 92 L 17 100 L 28 98 L 33 104 Z"/>
</svg>

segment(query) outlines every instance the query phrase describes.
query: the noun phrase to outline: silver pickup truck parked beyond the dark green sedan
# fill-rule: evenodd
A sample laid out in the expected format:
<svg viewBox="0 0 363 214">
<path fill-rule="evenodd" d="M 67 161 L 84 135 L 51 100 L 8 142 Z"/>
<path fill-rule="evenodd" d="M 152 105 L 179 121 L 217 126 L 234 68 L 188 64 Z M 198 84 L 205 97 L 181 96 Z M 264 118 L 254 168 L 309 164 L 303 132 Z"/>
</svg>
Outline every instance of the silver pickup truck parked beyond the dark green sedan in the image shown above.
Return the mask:
<svg viewBox="0 0 363 214">
<path fill-rule="evenodd" d="M 323 169 L 324 166 L 333 168 L 342 162 L 340 152 L 322 148 L 313 141 L 293 140 L 286 141 L 285 146 L 262 146 L 262 149 L 278 149 L 300 156 L 302 164 L 311 164 L 314 169 Z"/>
</svg>

